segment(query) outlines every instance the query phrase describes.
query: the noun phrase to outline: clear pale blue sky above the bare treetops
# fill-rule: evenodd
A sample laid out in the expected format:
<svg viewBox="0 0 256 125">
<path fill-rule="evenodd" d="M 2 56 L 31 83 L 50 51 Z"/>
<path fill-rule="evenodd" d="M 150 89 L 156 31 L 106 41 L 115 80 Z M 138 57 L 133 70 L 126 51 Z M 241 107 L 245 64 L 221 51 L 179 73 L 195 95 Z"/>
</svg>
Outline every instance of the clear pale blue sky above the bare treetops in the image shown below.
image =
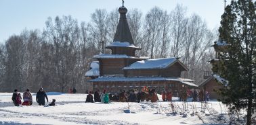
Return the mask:
<svg viewBox="0 0 256 125">
<path fill-rule="evenodd" d="M 125 7 L 128 11 L 137 8 L 145 14 L 154 6 L 170 12 L 177 3 L 188 8 L 188 15 L 200 15 L 209 28 L 219 26 L 223 0 L 125 0 Z M 95 9 L 112 11 L 121 4 L 121 0 L 0 0 L 0 42 L 25 28 L 43 31 L 47 17 L 72 15 L 79 22 L 89 22 Z"/>
</svg>

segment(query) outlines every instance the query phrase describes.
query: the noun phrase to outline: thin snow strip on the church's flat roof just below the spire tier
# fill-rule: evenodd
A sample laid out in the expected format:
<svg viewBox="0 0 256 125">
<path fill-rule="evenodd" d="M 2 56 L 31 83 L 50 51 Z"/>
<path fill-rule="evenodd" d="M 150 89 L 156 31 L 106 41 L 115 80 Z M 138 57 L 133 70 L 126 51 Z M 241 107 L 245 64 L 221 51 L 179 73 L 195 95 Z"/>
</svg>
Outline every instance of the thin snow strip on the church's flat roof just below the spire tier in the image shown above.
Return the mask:
<svg viewBox="0 0 256 125">
<path fill-rule="evenodd" d="M 148 57 L 127 56 L 126 54 L 98 54 L 93 56 L 93 58 L 143 58 L 143 59 L 146 59 Z"/>
</svg>

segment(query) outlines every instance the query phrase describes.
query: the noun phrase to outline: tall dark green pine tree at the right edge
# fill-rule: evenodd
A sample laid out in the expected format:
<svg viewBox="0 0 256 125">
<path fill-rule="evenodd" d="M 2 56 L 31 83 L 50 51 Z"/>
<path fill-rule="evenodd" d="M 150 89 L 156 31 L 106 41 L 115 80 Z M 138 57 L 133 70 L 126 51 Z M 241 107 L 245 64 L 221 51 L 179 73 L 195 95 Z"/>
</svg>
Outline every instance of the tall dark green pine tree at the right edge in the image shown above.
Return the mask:
<svg viewBox="0 0 256 125">
<path fill-rule="evenodd" d="M 228 80 L 221 101 L 233 109 L 247 109 L 247 124 L 255 106 L 256 8 L 251 0 L 232 0 L 221 16 L 219 38 L 228 43 L 213 72 Z"/>
</svg>

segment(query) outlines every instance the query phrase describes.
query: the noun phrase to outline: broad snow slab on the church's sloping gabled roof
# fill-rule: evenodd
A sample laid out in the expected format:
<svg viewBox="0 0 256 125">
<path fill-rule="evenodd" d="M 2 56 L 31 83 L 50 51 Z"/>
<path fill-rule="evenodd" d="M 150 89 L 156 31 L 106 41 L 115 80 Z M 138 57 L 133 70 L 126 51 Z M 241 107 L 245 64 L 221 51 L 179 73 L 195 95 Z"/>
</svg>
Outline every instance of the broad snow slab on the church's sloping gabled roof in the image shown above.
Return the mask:
<svg viewBox="0 0 256 125">
<path fill-rule="evenodd" d="M 165 69 L 172 63 L 176 62 L 176 58 L 156 58 L 141 60 L 131 64 L 123 69 Z"/>
</svg>

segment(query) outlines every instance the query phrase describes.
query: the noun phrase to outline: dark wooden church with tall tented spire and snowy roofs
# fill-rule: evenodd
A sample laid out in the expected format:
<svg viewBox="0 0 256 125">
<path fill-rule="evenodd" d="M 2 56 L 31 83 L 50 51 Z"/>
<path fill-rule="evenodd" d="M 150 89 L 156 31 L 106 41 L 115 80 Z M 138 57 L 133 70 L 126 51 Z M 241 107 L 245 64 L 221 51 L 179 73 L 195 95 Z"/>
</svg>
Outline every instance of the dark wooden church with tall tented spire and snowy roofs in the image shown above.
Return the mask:
<svg viewBox="0 0 256 125">
<path fill-rule="evenodd" d="M 136 56 L 135 51 L 141 48 L 135 46 L 127 23 L 127 8 L 119 7 L 120 19 L 116 28 L 114 40 L 106 46 L 111 54 L 93 56 L 91 69 L 85 74 L 93 85 L 93 91 L 106 89 L 110 93 L 121 90 L 149 89 L 173 92 L 182 87 L 198 87 L 193 80 L 181 77 L 188 68 L 178 58 L 155 58 Z"/>
</svg>

